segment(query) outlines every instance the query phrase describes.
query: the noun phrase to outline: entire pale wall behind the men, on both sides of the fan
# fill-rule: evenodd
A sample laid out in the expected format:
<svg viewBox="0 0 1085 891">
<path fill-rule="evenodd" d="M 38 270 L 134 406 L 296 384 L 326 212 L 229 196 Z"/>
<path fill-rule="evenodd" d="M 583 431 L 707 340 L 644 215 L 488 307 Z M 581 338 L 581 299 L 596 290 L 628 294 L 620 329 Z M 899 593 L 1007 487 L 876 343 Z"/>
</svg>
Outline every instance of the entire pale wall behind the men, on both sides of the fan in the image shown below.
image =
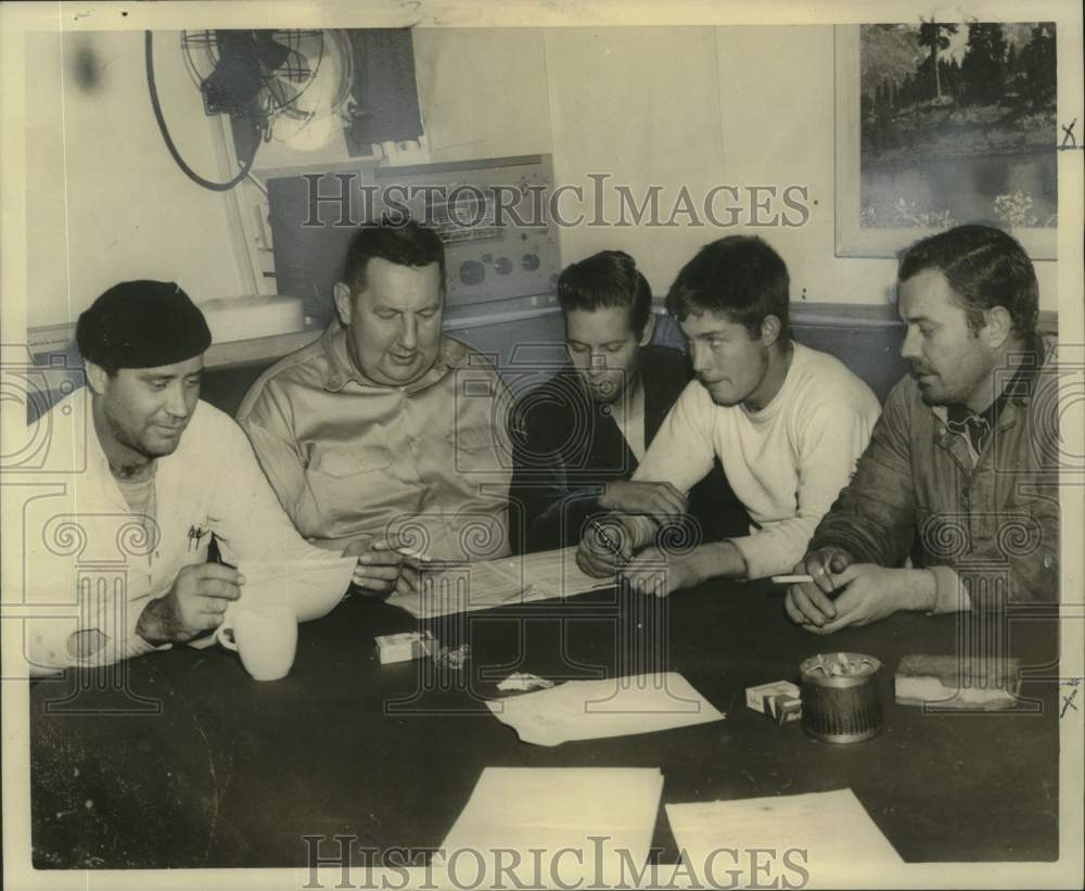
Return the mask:
<svg viewBox="0 0 1085 891">
<path fill-rule="evenodd" d="M 417 28 L 413 39 L 433 161 L 550 152 L 556 183 L 585 187 L 585 205 L 589 173 L 638 196 L 662 186 L 665 209 L 682 186 L 694 198 L 719 183 L 809 188 L 802 228 L 578 226 L 561 230 L 565 263 L 620 247 L 662 294 L 702 244 L 756 231 L 788 262 L 793 300 L 888 300 L 892 259 L 834 255 L 831 26 Z M 218 179 L 217 122 L 203 114 L 178 35 L 158 33 L 155 47 L 175 139 Z M 100 73 L 93 88 L 77 77 L 87 54 Z M 197 300 L 248 290 L 229 199 L 188 180 L 158 136 L 142 33 L 68 34 L 63 44 L 31 35 L 28 59 L 29 323 L 72 321 L 128 278 L 176 279 Z M 277 153 L 265 147 L 257 167 Z M 562 209 L 592 213 L 572 195 Z M 603 209 L 617 216 L 609 189 Z M 1056 264 L 1036 267 L 1041 305 L 1055 309 Z"/>
</svg>

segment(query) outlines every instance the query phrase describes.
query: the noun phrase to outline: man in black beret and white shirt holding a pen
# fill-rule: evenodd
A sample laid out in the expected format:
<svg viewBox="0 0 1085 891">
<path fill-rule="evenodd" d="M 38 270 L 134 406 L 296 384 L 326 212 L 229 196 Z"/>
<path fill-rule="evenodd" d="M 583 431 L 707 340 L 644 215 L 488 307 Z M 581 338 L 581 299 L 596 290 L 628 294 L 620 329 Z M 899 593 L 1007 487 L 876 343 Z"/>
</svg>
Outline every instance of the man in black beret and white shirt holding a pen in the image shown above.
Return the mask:
<svg viewBox="0 0 1085 891">
<path fill-rule="evenodd" d="M 80 615 L 27 622 L 31 673 L 108 664 L 218 627 L 244 578 L 207 562 L 212 533 L 232 564 L 335 559 L 294 530 L 237 423 L 200 402 L 210 331 L 180 288 L 111 288 L 79 317 L 76 341 L 88 386 L 39 420 L 52 430 L 50 416 L 75 419 L 55 428 L 82 435 L 54 436 L 44 468 L 75 472 L 43 500 L 24 574 L 28 602 L 75 597 Z M 105 564 L 122 589 L 91 571 Z"/>
</svg>

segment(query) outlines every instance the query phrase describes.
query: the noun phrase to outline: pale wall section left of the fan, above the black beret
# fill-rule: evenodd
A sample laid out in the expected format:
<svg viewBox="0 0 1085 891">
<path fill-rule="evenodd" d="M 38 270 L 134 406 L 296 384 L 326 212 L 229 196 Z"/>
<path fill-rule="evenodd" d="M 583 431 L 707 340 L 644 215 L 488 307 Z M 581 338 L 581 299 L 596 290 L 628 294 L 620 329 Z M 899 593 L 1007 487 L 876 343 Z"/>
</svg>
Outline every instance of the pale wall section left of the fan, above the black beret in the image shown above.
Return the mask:
<svg viewBox="0 0 1085 891">
<path fill-rule="evenodd" d="M 174 141 L 190 166 L 218 180 L 216 125 L 179 36 L 156 33 L 154 47 Z M 30 34 L 26 78 L 30 327 L 74 321 L 128 279 L 176 280 L 197 301 L 243 292 L 228 199 L 189 180 L 158 135 L 142 31 Z"/>
</svg>

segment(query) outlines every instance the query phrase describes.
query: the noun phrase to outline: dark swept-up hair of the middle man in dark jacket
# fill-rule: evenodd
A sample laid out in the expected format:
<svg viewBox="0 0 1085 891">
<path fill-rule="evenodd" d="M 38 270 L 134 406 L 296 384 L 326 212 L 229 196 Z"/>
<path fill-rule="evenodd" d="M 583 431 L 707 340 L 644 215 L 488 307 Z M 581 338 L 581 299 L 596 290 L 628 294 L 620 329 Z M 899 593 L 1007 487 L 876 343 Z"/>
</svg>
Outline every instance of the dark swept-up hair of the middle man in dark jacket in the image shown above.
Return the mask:
<svg viewBox="0 0 1085 891">
<path fill-rule="evenodd" d="M 652 314 L 652 288 L 624 251 L 600 251 L 566 266 L 558 276 L 558 302 L 562 311 L 624 306 L 638 338 Z"/>
</svg>

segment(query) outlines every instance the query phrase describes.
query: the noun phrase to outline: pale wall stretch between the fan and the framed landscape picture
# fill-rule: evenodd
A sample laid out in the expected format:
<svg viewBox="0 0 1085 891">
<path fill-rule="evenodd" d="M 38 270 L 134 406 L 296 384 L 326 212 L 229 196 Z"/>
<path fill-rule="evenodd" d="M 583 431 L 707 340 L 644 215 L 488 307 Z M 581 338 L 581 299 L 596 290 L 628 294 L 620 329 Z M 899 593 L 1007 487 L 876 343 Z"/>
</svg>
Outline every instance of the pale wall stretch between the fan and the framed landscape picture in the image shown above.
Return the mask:
<svg viewBox="0 0 1085 891">
<path fill-rule="evenodd" d="M 552 151 L 556 184 L 586 189 L 566 215 L 590 218 L 589 173 L 636 195 L 662 186 L 668 211 L 682 184 L 694 198 L 719 183 L 809 189 L 801 228 L 579 226 L 561 231 L 564 263 L 620 247 L 662 294 L 702 244 L 755 232 L 787 260 L 794 301 L 889 300 L 895 260 L 835 256 L 831 26 L 419 28 L 414 50 L 433 160 Z M 1056 309 L 1056 264 L 1036 270 Z"/>
</svg>

